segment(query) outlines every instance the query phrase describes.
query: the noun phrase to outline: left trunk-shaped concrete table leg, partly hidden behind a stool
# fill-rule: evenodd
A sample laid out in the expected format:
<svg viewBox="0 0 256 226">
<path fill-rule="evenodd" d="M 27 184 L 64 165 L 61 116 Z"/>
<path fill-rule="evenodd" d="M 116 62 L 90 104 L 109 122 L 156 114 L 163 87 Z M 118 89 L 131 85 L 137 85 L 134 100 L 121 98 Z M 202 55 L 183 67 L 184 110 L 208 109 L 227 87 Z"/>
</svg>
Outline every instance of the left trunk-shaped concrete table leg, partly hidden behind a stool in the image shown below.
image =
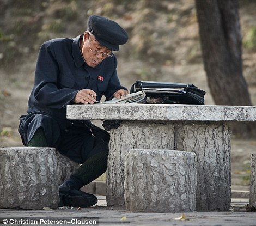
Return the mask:
<svg viewBox="0 0 256 226">
<path fill-rule="evenodd" d="M 107 204 L 124 205 L 124 159 L 129 149 L 173 149 L 170 123 L 125 121 L 111 130 L 107 169 Z"/>
</svg>

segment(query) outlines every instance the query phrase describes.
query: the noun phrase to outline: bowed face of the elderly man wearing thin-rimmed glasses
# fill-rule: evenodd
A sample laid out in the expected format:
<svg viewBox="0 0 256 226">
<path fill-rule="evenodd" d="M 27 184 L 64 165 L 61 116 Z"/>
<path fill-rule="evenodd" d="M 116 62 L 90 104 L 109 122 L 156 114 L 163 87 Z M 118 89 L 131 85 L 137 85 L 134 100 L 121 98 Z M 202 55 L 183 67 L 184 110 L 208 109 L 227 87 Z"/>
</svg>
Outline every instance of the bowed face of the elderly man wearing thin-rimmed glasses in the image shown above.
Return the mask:
<svg viewBox="0 0 256 226">
<path fill-rule="evenodd" d="M 103 59 L 113 54 L 111 50 L 102 46 L 96 41 L 95 37 L 88 32 L 85 32 L 83 35 L 81 49 L 84 60 L 86 60 L 87 65 L 92 68 L 101 63 Z"/>
</svg>

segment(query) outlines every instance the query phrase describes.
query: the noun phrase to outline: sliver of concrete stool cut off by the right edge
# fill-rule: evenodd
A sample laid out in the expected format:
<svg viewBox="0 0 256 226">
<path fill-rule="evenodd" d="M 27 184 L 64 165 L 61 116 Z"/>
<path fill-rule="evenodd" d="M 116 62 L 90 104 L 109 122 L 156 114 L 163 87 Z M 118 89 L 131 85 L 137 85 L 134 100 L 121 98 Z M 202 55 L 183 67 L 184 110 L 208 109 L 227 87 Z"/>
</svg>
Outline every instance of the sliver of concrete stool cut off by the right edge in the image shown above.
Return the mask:
<svg viewBox="0 0 256 226">
<path fill-rule="evenodd" d="M 251 154 L 251 186 L 249 206 L 256 209 L 256 154 Z"/>
</svg>

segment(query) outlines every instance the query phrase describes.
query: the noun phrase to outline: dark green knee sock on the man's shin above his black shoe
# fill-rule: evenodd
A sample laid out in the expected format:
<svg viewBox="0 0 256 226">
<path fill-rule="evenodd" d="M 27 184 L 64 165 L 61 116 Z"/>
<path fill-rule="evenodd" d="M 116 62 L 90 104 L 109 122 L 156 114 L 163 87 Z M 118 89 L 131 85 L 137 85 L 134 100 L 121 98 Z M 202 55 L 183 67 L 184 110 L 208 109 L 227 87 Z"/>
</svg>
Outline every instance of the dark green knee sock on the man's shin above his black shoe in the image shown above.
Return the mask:
<svg viewBox="0 0 256 226">
<path fill-rule="evenodd" d="M 108 151 L 102 151 L 88 158 L 74 173 L 83 181 L 83 186 L 99 178 L 107 170 Z"/>
</svg>

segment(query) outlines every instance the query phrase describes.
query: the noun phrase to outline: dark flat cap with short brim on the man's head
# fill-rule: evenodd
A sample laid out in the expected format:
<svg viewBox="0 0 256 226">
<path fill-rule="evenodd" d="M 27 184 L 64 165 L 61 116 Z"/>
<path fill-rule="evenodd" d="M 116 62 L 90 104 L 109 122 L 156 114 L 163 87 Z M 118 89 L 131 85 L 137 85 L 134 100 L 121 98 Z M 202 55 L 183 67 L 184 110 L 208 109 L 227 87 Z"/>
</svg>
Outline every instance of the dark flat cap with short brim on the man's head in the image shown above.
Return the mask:
<svg viewBox="0 0 256 226">
<path fill-rule="evenodd" d="M 89 16 L 87 30 L 109 50 L 118 51 L 119 45 L 125 44 L 128 40 L 126 31 L 117 22 L 102 16 Z"/>
</svg>

